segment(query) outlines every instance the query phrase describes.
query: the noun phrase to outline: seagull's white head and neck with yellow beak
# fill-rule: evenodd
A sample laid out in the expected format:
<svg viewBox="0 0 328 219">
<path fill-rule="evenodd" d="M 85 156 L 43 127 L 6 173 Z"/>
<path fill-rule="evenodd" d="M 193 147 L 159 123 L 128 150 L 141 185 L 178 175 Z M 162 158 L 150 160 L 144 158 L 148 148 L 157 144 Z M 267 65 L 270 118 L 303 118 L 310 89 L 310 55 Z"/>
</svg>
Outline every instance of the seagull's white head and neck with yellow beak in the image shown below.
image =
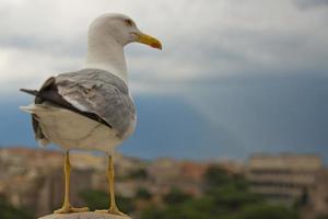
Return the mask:
<svg viewBox="0 0 328 219">
<path fill-rule="evenodd" d="M 117 13 L 98 16 L 89 28 L 86 67 L 108 70 L 127 81 L 122 48 L 133 42 L 162 49 L 161 42 L 142 33 L 129 16 Z"/>
</svg>

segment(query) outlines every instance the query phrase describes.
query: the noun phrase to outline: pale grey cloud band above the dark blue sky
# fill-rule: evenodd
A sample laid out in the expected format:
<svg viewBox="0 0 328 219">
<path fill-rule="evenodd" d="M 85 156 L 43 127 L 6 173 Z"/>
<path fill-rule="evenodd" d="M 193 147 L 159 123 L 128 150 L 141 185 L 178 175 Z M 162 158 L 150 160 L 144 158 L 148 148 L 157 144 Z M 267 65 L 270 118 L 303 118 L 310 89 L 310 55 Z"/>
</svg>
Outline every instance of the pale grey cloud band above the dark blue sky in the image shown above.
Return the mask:
<svg viewBox="0 0 328 219">
<path fill-rule="evenodd" d="M 129 4 L 114 1 L 108 5 L 106 1 L 85 1 L 82 5 L 70 1 L 70 8 L 79 4 L 78 11 L 71 13 L 63 0 L 56 3 L 31 0 L 19 9 L 14 4 L 5 7 L 7 13 L 0 15 L 0 46 L 22 53 L 33 50 L 39 56 L 73 57 L 83 62 L 90 21 L 110 8 L 122 12 L 128 9 L 127 13 L 136 18 L 139 26 L 159 36 L 164 45 L 161 54 L 141 46 L 127 49 L 129 69 L 134 73 L 132 80 L 140 83 L 143 79 L 172 83 L 212 80 L 232 73 L 328 69 L 325 28 L 328 15 L 317 8 L 313 9 L 317 13 L 309 15 L 293 3 L 294 0 L 179 1 L 177 4 L 165 1 L 144 5 L 141 1 Z M 56 61 L 49 61 L 49 68 L 58 68 Z M 62 60 L 60 65 L 63 64 Z"/>
</svg>

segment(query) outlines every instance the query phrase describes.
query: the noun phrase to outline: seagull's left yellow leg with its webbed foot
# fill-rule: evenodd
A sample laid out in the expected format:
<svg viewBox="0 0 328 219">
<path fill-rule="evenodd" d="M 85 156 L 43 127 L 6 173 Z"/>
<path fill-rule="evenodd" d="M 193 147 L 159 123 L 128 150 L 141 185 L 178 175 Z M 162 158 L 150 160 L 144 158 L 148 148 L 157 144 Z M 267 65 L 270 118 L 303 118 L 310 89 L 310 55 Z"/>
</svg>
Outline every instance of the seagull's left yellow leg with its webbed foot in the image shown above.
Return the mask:
<svg viewBox="0 0 328 219">
<path fill-rule="evenodd" d="M 63 162 L 63 173 L 65 173 L 65 197 L 62 207 L 58 210 L 55 210 L 55 214 L 68 214 L 68 212 L 82 212 L 89 211 L 87 207 L 84 208 L 74 208 L 70 204 L 70 175 L 71 175 L 71 163 L 69 151 L 65 153 Z"/>
</svg>

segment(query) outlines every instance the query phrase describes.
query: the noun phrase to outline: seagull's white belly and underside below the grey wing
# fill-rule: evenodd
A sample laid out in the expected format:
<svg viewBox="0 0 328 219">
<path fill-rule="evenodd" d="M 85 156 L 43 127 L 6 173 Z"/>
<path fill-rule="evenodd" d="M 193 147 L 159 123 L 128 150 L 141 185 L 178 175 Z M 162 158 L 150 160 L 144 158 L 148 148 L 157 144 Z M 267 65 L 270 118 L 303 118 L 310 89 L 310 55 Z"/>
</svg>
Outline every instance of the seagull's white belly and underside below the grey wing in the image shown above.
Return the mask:
<svg viewBox="0 0 328 219">
<path fill-rule="evenodd" d="M 113 153 L 124 140 L 117 137 L 114 129 L 65 108 L 34 106 L 33 113 L 38 116 L 45 137 L 66 150 L 86 149 Z M 134 127 L 134 124 L 131 126 Z"/>
</svg>

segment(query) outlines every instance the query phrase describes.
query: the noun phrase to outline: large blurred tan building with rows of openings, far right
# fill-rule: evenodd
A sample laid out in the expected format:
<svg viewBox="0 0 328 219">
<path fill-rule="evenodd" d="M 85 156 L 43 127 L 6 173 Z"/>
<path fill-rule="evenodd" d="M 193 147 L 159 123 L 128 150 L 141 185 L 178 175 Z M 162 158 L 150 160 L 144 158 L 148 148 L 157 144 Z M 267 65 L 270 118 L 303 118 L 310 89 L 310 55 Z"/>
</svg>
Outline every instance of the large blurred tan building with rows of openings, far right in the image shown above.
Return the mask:
<svg viewBox="0 0 328 219">
<path fill-rule="evenodd" d="M 316 154 L 254 154 L 246 168 L 250 189 L 271 201 L 296 205 L 306 214 L 326 214 L 328 173 Z"/>
</svg>

